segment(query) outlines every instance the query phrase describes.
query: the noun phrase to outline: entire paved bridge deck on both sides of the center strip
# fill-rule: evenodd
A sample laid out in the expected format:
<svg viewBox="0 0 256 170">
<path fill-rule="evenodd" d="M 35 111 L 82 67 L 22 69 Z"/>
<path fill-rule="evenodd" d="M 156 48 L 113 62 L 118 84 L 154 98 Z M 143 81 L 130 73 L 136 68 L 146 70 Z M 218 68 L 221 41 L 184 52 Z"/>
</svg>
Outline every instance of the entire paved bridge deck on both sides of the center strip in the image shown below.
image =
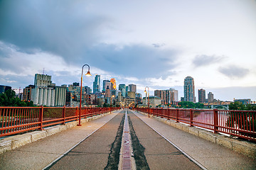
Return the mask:
<svg viewBox="0 0 256 170">
<path fill-rule="evenodd" d="M 65 158 L 73 162 L 69 164 L 71 165 L 70 167 L 74 168 L 75 164 L 87 164 L 88 166 L 82 166 L 80 168 L 103 169 L 107 166 L 107 159 L 109 159 L 111 150 L 110 145 L 117 138 L 122 114 L 117 111 L 92 122 L 84 123 L 80 127 L 65 130 L 45 139 L 0 154 L 0 169 L 43 169 L 64 154 L 70 154 L 70 157 Z M 191 164 L 191 162 L 183 162 L 186 157 L 180 155 L 180 151 L 163 140 L 164 138 L 157 136 L 156 132 L 151 130 L 149 126 L 161 133 L 161 135 L 164 135 L 167 140 L 173 142 L 174 145 L 181 148 L 183 152 L 186 152 L 188 156 L 206 167 L 206 169 L 256 169 L 255 160 L 245 157 L 242 154 L 238 154 L 230 149 L 213 144 L 212 142 L 208 142 L 200 137 L 188 134 L 152 118 L 147 118 L 146 115 L 134 111 L 129 112 L 128 115 L 140 144 L 145 148 L 144 157 L 150 169 L 163 169 L 164 167 L 169 167 L 169 169 L 171 167 L 175 167 L 174 169 L 184 169 L 186 166 L 193 166 L 197 169 L 198 166 Z M 144 124 L 142 120 L 149 126 Z M 100 129 L 94 133 L 95 139 L 93 135 L 88 137 L 88 135 L 98 128 Z M 102 136 L 103 134 L 105 135 Z M 82 140 L 84 140 L 83 143 Z M 162 145 L 162 142 L 166 143 Z M 100 146 L 105 148 L 105 150 L 100 149 Z M 81 151 L 79 148 L 86 148 L 88 150 Z M 73 154 L 72 149 L 74 149 Z M 79 149 L 79 152 L 75 149 Z M 134 149 L 136 148 L 134 147 Z M 172 155 L 169 154 L 168 149 L 171 150 Z M 96 151 L 98 154 L 93 154 L 93 157 L 95 157 L 94 160 L 97 163 L 85 163 L 85 160 L 82 158 L 85 159 L 87 154 Z M 174 159 L 177 157 L 175 157 L 174 152 L 178 153 L 179 158 L 176 161 L 178 165 L 169 166 L 169 162 L 175 164 Z M 79 160 L 77 160 L 78 158 Z M 63 162 L 67 164 L 68 161 L 65 159 L 63 159 Z M 60 164 L 60 161 L 55 163 L 55 165 L 58 164 Z M 61 164 L 60 167 L 62 167 Z M 55 166 L 55 169 L 60 169 L 60 167 Z M 54 169 L 53 166 L 50 168 Z"/>
</svg>

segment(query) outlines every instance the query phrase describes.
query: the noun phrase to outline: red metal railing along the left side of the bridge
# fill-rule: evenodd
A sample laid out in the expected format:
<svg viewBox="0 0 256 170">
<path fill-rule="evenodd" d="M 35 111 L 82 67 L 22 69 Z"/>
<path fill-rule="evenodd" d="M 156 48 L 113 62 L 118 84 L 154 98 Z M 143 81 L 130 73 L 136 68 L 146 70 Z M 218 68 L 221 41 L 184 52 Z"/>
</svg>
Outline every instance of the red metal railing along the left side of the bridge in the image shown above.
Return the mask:
<svg viewBox="0 0 256 170">
<path fill-rule="evenodd" d="M 100 115 L 118 108 L 82 108 L 81 118 Z M 0 107 L 0 137 L 78 120 L 78 108 Z"/>
</svg>

